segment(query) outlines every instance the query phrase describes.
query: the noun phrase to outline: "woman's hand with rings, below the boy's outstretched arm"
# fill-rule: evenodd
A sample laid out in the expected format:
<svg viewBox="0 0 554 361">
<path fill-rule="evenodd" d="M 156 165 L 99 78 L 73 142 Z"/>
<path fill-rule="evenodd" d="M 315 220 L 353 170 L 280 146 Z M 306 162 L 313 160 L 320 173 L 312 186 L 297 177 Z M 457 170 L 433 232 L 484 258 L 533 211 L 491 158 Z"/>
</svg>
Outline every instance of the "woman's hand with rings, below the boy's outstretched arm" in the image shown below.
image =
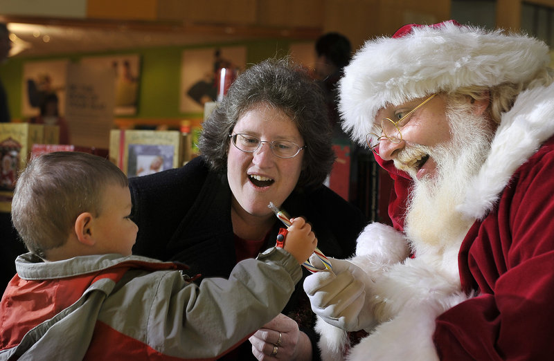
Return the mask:
<svg viewBox="0 0 554 361">
<path fill-rule="evenodd" d="M 312 344 L 298 324 L 280 313 L 249 338 L 252 353 L 262 360 L 312 360 Z"/>
</svg>

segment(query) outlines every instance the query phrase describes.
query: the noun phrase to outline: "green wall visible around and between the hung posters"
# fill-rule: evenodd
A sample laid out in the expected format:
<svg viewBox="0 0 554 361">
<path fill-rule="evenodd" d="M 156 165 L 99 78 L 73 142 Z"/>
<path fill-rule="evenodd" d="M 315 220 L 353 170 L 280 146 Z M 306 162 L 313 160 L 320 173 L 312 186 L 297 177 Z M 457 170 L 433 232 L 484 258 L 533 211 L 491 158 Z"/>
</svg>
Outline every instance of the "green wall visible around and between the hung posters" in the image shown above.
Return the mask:
<svg viewBox="0 0 554 361">
<path fill-rule="evenodd" d="M 70 59 L 78 62 L 81 57 L 90 55 L 141 56 L 141 84 L 139 107 L 136 115 L 128 118 L 184 118 L 202 117 L 202 114 L 179 112 L 179 91 L 181 72 L 181 52 L 193 48 L 213 48 L 225 46 L 246 46 L 247 64 L 255 64 L 268 57 L 287 55 L 292 41 L 263 39 L 236 42 L 233 44 L 204 44 L 202 46 L 173 46 L 160 48 L 126 49 L 110 53 L 64 54 L 48 57 L 16 57 L 0 64 L 0 79 L 8 93 L 8 104 L 12 119 L 21 119 L 21 86 L 23 65 L 29 60 Z"/>
</svg>

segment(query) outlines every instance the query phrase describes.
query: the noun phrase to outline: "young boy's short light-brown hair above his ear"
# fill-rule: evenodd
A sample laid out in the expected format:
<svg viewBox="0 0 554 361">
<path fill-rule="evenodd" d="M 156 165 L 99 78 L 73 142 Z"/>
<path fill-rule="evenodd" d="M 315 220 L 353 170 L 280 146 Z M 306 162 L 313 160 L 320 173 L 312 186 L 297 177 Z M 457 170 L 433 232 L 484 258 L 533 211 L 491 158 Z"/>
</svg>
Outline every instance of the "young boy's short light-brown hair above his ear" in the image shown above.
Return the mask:
<svg viewBox="0 0 554 361">
<path fill-rule="evenodd" d="M 127 176 L 109 160 L 76 151 L 33 158 L 21 172 L 12 200 L 12 223 L 30 252 L 63 246 L 77 216 L 102 212 L 107 185 L 128 187 Z"/>
</svg>

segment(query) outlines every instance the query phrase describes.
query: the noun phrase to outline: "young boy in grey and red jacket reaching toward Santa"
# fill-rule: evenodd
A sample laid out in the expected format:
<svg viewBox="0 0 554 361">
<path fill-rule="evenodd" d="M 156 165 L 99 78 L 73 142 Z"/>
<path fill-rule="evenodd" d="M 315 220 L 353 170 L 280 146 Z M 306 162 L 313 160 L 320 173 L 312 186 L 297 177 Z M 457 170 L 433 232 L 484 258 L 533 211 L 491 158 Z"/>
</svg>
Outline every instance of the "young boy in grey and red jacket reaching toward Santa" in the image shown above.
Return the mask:
<svg viewBox="0 0 554 361">
<path fill-rule="evenodd" d="M 0 302 L 0 360 L 216 358 L 278 315 L 317 243 L 294 219 L 283 248 L 197 286 L 184 265 L 131 255 L 131 208 L 108 160 L 56 152 L 28 164 L 12 221 L 30 252 Z"/>
</svg>

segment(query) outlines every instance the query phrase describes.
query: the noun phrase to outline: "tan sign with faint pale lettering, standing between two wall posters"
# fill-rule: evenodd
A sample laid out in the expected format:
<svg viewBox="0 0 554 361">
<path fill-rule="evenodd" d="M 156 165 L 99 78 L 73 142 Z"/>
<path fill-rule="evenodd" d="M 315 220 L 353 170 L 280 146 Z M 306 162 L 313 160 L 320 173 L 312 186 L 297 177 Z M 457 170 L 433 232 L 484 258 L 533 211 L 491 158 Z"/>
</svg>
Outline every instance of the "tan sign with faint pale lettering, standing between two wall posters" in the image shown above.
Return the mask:
<svg viewBox="0 0 554 361">
<path fill-rule="evenodd" d="M 114 124 L 114 72 L 82 64 L 69 64 L 67 69 L 66 119 L 71 142 L 108 149 Z"/>
</svg>

